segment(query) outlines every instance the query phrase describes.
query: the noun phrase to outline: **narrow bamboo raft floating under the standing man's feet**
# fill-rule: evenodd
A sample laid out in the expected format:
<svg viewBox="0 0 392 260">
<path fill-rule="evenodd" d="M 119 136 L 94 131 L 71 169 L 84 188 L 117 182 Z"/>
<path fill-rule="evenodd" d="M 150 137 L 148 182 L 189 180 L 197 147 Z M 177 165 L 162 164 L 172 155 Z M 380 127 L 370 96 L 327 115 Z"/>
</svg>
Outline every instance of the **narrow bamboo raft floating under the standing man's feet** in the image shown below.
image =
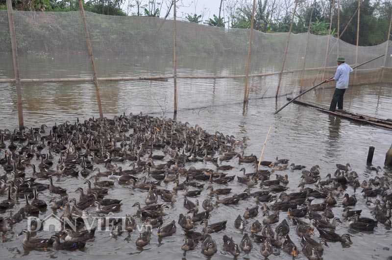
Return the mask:
<svg viewBox="0 0 392 260">
<path fill-rule="evenodd" d="M 292 100 L 292 97 L 287 97 L 287 100 Z M 330 115 L 335 115 L 338 117 L 342 117 L 342 118 L 346 118 L 349 120 L 353 120 L 353 121 L 357 121 L 357 122 L 361 122 L 364 124 L 371 124 L 371 125 L 375 125 L 375 126 L 381 126 L 384 128 L 388 128 L 392 130 L 392 120 L 391 119 L 382 119 L 382 118 L 374 118 L 374 117 L 370 117 L 370 116 L 366 116 L 366 115 L 362 115 L 362 114 L 356 114 L 356 113 L 352 113 L 352 112 L 348 112 L 345 110 L 336 110 L 336 111 L 329 111 L 328 108 L 326 107 L 322 107 L 318 104 L 312 103 L 312 102 L 304 102 L 304 101 L 300 101 L 300 100 L 294 100 L 293 103 L 298 104 L 298 105 L 303 105 L 303 106 L 307 106 L 307 107 L 311 107 L 314 109 L 317 109 L 321 112 L 330 114 Z"/>
</svg>

